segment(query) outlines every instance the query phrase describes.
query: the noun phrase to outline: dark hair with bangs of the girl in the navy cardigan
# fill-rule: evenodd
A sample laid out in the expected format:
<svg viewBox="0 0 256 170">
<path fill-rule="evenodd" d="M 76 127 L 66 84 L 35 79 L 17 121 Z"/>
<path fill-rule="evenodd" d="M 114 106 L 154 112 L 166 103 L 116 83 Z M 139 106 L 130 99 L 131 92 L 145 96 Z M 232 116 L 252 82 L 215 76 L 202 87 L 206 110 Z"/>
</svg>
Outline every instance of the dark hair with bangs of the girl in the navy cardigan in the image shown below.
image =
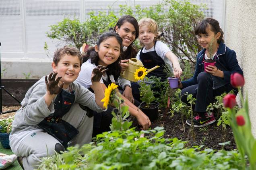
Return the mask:
<svg viewBox="0 0 256 170">
<path fill-rule="evenodd" d="M 211 27 L 209 27 L 211 26 Z M 218 43 L 223 42 L 224 43 L 224 39 L 223 39 L 223 31 L 222 29 L 219 27 L 219 22 L 213 18 L 205 18 L 204 20 L 202 20 L 201 23 L 199 23 L 194 32 L 196 35 L 199 35 L 200 33 L 202 34 L 206 34 L 206 29 L 209 27 L 209 29 L 211 29 L 211 31 L 213 31 L 215 34 L 217 33 L 221 33 L 221 36 L 219 37 L 219 39 L 217 40 Z"/>
</svg>

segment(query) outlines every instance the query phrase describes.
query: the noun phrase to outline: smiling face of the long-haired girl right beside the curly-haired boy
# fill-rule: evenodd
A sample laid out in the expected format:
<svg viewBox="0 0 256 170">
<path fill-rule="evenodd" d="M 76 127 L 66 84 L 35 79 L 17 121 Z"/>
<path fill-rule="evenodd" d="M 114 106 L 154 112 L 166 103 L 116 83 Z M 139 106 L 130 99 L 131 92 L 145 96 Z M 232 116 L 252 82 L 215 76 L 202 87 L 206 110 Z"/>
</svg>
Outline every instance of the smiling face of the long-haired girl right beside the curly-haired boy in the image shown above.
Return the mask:
<svg viewBox="0 0 256 170">
<path fill-rule="evenodd" d="M 99 65 L 108 66 L 118 60 L 120 55 L 120 44 L 116 37 L 109 37 L 99 45 L 95 45 L 95 51 L 99 54 Z"/>
</svg>

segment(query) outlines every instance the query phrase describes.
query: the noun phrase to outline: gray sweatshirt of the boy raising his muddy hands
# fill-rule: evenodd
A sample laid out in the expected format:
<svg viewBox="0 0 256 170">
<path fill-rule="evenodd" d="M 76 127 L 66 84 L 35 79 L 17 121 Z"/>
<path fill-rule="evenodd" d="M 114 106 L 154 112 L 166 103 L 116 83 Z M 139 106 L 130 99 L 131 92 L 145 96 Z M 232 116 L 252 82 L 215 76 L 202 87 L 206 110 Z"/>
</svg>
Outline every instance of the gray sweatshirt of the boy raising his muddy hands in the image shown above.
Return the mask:
<svg viewBox="0 0 256 170">
<path fill-rule="evenodd" d="M 74 82 L 70 84 L 70 88 L 75 92 L 74 103 L 79 103 L 94 111 L 102 112 L 101 107 L 96 104 L 95 96 L 91 91 Z M 45 103 L 45 93 L 46 84 L 44 76 L 27 91 L 25 98 L 21 102 L 22 107 L 17 111 L 14 121 L 12 122 L 12 131 L 10 135 L 17 134 L 22 131 L 38 129 L 39 127 L 37 124 L 45 117 L 54 113 L 53 102 L 49 107 L 47 107 L 47 104 Z M 69 114 L 71 111 L 72 107 L 66 114 Z"/>
</svg>

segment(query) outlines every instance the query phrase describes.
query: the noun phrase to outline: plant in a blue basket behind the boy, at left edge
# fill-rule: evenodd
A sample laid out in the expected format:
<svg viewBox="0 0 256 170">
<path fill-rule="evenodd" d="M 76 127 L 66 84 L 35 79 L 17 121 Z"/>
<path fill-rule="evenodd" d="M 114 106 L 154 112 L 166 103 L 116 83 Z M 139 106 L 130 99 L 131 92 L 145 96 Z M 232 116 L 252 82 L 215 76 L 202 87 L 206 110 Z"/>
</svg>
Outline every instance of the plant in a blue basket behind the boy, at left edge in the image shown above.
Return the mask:
<svg viewBox="0 0 256 170">
<path fill-rule="evenodd" d="M 10 149 L 9 135 L 12 131 L 12 121 L 14 117 L 0 120 L 0 142 L 5 149 Z"/>
</svg>

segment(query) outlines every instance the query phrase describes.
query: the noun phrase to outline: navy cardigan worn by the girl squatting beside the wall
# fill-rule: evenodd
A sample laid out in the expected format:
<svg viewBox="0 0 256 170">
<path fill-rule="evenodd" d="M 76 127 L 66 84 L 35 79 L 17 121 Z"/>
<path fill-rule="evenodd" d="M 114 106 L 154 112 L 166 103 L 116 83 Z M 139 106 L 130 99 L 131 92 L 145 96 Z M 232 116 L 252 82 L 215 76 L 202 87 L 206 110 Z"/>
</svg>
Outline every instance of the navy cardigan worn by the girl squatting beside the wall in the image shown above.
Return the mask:
<svg viewBox="0 0 256 170">
<path fill-rule="evenodd" d="M 194 76 L 188 80 L 182 81 L 182 86 L 183 88 L 186 88 L 188 86 L 192 86 L 197 83 L 197 76 L 200 72 L 204 72 L 204 54 L 205 54 L 206 49 L 202 49 L 197 57 L 196 57 L 196 70 L 194 73 Z M 219 63 L 219 70 L 223 71 L 224 73 L 224 78 L 220 78 L 223 80 L 224 84 L 219 85 L 217 88 L 224 86 L 227 83 L 230 83 L 230 75 L 237 72 L 239 74 L 243 75 L 243 71 L 240 68 L 238 61 L 236 59 L 236 53 L 235 51 L 229 49 L 223 42 L 219 44 L 219 48 L 217 50 L 217 53 L 215 57 L 213 58 L 217 63 Z M 213 76 L 215 77 L 215 76 Z M 215 77 L 217 78 L 217 77 Z"/>
</svg>

